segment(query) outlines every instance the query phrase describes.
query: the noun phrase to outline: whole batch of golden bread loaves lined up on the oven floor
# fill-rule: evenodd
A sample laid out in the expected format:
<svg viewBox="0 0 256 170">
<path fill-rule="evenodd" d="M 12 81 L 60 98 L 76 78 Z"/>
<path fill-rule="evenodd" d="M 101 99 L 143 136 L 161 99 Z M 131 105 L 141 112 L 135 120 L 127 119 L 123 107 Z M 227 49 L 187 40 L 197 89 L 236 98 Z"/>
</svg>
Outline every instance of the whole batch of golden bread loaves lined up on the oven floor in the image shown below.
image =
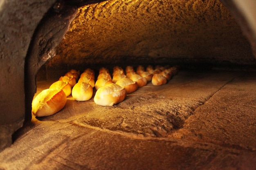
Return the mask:
<svg viewBox="0 0 256 170">
<path fill-rule="evenodd" d="M 124 72 L 121 67 L 116 66 L 113 68 L 112 78 L 108 69 L 101 68 L 95 82 L 92 69 L 87 68 L 81 75 L 79 71 L 72 69 L 35 97 L 32 113 L 38 117 L 57 113 L 65 106 L 70 94 L 77 101 L 87 101 L 92 98 L 94 86 L 97 90 L 94 102 L 101 106 L 112 106 L 147 82 L 152 81 L 153 85 L 166 84 L 177 71 L 177 66 L 147 66 L 146 71 L 143 66 L 138 66 L 135 72 L 132 66 L 127 66 Z"/>
</svg>

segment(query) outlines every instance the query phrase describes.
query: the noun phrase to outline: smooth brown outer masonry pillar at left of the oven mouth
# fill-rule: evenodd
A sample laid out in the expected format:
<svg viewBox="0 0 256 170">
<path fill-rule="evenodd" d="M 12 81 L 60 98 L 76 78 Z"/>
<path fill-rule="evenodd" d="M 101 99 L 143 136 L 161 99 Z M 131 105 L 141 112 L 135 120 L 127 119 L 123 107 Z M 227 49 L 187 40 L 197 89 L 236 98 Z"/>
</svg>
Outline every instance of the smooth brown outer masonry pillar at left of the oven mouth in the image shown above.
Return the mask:
<svg viewBox="0 0 256 170">
<path fill-rule="evenodd" d="M 37 24 L 55 0 L 0 2 L 0 151 L 25 117 L 24 65 Z"/>
</svg>

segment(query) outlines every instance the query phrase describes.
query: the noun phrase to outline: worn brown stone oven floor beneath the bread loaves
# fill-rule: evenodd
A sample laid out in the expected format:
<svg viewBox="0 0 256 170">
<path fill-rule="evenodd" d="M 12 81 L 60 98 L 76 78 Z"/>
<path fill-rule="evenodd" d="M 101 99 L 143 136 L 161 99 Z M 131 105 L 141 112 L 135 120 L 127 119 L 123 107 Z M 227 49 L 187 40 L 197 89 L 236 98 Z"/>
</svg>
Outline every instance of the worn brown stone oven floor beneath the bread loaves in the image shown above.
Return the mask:
<svg viewBox="0 0 256 170">
<path fill-rule="evenodd" d="M 112 107 L 68 97 L 32 117 L 0 169 L 256 170 L 256 72 L 180 71 Z"/>
</svg>

